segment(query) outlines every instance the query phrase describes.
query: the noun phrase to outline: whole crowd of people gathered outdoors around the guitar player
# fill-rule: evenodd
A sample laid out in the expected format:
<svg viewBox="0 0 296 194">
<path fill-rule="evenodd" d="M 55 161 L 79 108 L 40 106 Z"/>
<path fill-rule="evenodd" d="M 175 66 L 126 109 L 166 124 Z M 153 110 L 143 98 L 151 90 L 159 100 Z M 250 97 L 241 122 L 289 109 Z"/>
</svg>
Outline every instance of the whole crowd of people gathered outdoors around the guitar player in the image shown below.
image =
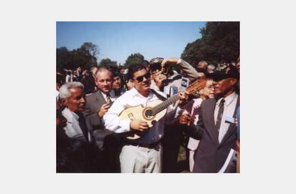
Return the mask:
<svg viewBox="0 0 296 194">
<path fill-rule="evenodd" d="M 234 149 L 238 160 L 231 172 L 239 173 L 239 65 L 239 58 L 195 67 L 179 58 L 154 58 L 128 69 L 57 69 L 57 172 L 177 173 L 184 146 L 188 169 L 182 172 L 217 173 Z M 196 81 L 202 87 L 186 90 Z M 176 102 L 164 103 L 153 125 L 156 114 L 143 112 L 146 120 L 120 115 L 170 99 Z"/>
</svg>

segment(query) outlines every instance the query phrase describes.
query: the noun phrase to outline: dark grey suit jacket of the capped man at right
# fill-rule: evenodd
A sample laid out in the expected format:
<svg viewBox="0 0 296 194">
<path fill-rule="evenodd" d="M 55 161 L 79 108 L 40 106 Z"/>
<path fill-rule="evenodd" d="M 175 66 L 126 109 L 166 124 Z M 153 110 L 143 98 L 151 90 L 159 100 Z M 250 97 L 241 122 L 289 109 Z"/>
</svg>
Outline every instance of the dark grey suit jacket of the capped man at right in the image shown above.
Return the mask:
<svg viewBox="0 0 296 194">
<path fill-rule="evenodd" d="M 221 143 L 218 142 L 218 132 L 214 122 L 215 103 L 215 99 L 208 99 L 203 101 L 201 105 L 196 131 L 201 130 L 203 136 L 196 150 L 193 173 L 217 173 L 222 168 L 230 149 L 236 150 L 237 127 L 233 123 L 230 124 Z M 233 117 L 238 106 L 239 95 Z"/>
</svg>

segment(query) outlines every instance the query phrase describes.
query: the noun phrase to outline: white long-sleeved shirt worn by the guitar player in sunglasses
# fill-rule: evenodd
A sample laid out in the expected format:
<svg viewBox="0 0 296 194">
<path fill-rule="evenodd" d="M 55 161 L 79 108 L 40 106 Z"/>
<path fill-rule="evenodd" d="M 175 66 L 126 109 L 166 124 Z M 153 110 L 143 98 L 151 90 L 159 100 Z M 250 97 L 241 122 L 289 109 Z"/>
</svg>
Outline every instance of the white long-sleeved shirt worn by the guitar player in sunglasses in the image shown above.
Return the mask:
<svg viewBox="0 0 296 194">
<path fill-rule="evenodd" d="M 152 100 L 158 100 L 157 96 L 153 93 L 150 93 L 148 97 L 144 97 L 138 93 L 135 88 L 127 91 L 115 100 L 113 105 L 109 108 L 107 114 L 104 115 L 103 120 L 106 129 L 114 131 L 115 133 L 130 131 L 131 121 L 120 119 L 118 117 L 119 114 L 122 112 L 122 110 L 128 107 L 145 104 Z M 168 106 L 165 117 L 161 118 L 154 126 L 147 130 L 141 138 L 138 140 L 129 141 L 139 144 L 152 144 L 159 141 L 163 136 L 164 123 L 173 123 L 175 119 L 182 115 L 182 113 L 183 109 L 179 108 L 178 106 Z"/>
</svg>

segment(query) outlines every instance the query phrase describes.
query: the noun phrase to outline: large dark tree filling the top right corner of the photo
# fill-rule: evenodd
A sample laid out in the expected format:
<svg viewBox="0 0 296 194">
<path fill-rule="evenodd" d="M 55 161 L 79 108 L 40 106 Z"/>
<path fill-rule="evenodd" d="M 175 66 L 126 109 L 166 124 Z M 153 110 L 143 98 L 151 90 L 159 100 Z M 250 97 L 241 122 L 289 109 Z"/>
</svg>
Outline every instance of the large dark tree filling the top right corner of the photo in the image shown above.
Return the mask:
<svg viewBox="0 0 296 194">
<path fill-rule="evenodd" d="M 239 56 L 239 22 L 211 21 L 200 29 L 201 39 L 188 43 L 181 58 L 190 64 L 236 61 Z"/>
</svg>

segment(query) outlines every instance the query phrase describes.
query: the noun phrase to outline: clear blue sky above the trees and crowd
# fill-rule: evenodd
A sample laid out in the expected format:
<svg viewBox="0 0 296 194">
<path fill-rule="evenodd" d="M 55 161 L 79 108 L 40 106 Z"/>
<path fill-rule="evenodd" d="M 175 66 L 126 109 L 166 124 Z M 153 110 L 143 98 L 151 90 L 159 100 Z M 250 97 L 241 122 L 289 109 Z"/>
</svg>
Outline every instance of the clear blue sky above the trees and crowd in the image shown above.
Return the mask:
<svg viewBox="0 0 296 194">
<path fill-rule="evenodd" d="M 92 42 L 104 58 L 124 64 L 132 53 L 145 60 L 180 57 L 185 46 L 201 38 L 206 22 L 57 22 L 57 47 L 69 50 Z"/>
</svg>

